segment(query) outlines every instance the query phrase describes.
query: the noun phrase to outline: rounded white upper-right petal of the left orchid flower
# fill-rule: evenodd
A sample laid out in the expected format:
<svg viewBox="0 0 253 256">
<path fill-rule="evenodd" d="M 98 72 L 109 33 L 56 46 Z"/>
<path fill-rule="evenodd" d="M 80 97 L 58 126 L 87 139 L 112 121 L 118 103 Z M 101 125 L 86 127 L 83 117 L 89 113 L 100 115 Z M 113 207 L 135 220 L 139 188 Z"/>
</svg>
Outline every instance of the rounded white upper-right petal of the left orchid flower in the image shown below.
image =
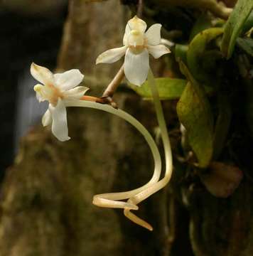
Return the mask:
<svg viewBox="0 0 253 256">
<path fill-rule="evenodd" d="M 55 86 L 60 90 L 70 90 L 82 82 L 84 75 L 80 73 L 80 70 L 72 69 L 64 73 L 59 73 L 54 75 Z"/>
</svg>

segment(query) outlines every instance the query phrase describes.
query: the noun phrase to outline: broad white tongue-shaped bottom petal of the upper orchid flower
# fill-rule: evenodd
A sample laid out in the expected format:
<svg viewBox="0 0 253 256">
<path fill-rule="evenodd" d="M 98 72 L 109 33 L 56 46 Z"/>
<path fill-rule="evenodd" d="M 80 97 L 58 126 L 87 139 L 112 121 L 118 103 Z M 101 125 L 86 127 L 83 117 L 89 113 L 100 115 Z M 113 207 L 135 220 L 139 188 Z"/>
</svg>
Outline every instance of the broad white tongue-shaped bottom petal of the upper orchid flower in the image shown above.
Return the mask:
<svg viewBox="0 0 253 256">
<path fill-rule="evenodd" d="M 134 85 L 142 85 L 149 73 L 149 52 L 144 49 L 139 54 L 126 50 L 124 73 L 127 80 Z"/>
</svg>

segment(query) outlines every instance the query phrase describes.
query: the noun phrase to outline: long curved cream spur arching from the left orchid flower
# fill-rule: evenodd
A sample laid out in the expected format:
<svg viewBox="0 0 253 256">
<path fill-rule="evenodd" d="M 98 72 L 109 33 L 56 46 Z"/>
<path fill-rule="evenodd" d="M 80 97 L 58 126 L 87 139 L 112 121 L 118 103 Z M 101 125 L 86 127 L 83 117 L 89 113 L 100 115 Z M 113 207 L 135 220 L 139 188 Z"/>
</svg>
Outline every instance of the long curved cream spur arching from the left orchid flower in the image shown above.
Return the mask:
<svg viewBox="0 0 253 256">
<path fill-rule="evenodd" d="M 153 137 L 151 137 L 151 134 L 137 119 L 132 117 L 130 114 L 124 112 L 123 110 L 114 109 L 109 105 L 103 105 L 97 102 L 86 101 L 86 100 L 71 100 L 71 101 L 66 100 L 65 106 L 66 107 L 90 107 L 92 109 L 102 110 L 104 112 L 115 114 L 118 117 L 121 117 L 122 119 L 126 120 L 126 122 L 129 122 L 130 124 L 132 124 L 134 127 L 136 127 L 136 129 L 139 132 L 141 132 L 141 134 L 144 136 L 144 138 L 146 139 L 146 142 L 149 144 L 151 153 L 154 157 L 154 174 L 151 180 L 148 183 L 146 183 L 144 186 L 141 186 L 140 188 L 136 188 L 131 191 L 119 192 L 119 193 L 104 193 L 104 194 L 95 195 L 93 198 L 93 203 L 96 206 L 109 207 L 109 208 L 130 208 L 132 210 L 137 210 L 138 207 L 135 206 L 134 204 L 126 203 L 124 201 L 117 201 L 117 200 L 131 198 L 132 196 L 136 195 L 136 193 L 139 193 L 143 191 L 145 188 L 147 188 L 148 186 L 150 186 L 150 184 L 156 183 L 160 178 L 161 156 L 156 146 L 156 143 L 154 142 Z"/>
</svg>

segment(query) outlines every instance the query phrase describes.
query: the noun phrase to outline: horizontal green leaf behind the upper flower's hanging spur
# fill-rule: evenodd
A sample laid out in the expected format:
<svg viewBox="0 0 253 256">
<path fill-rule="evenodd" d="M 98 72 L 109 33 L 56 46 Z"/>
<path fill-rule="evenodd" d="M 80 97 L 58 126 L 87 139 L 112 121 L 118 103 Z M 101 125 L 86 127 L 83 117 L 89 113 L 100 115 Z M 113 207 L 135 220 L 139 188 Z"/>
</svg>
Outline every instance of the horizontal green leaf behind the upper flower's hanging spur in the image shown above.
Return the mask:
<svg viewBox="0 0 253 256">
<path fill-rule="evenodd" d="M 156 78 L 156 86 L 160 100 L 175 100 L 180 98 L 183 90 L 185 89 L 185 85 L 186 80 L 183 79 Z M 144 84 L 140 87 L 131 84 L 129 84 L 129 86 L 146 100 L 152 99 L 152 94 L 148 82 L 144 82 Z"/>
</svg>

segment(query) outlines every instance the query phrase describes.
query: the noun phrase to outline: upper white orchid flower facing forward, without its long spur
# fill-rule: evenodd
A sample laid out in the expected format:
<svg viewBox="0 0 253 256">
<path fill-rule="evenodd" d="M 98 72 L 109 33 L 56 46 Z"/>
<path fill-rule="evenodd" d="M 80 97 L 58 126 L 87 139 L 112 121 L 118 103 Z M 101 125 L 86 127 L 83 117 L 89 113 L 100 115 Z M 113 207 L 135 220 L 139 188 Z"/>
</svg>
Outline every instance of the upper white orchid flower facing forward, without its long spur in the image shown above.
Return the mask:
<svg viewBox="0 0 253 256">
<path fill-rule="evenodd" d="M 124 59 L 124 73 L 134 85 L 142 85 L 149 73 L 149 53 L 154 58 L 171 51 L 161 43 L 161 24 L 154 24 L 146 31 L 146 22 L 134 16 L 126 24 L 123 47 L 105 51 L 97 57 L 97 63 L 114 63 Z"/>
</svg>

